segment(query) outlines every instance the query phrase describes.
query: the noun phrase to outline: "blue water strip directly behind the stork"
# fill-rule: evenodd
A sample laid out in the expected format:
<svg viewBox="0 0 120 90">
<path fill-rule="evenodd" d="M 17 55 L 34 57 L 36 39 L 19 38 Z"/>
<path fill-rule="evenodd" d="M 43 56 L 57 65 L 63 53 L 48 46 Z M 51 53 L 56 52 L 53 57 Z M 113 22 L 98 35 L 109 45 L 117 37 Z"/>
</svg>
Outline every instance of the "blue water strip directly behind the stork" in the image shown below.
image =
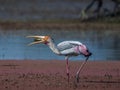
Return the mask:
<svg viewBox="0 0 120 90">
<path fill-rule="evenodd" d="M 93 53 L 91 60 L 119 60 L 120 59 L 120 31 L 119 30 L 0 30 L 0 59 L 59 59 L 45 45 L 28 47 L 32 40 L 27 35 L 50 35 L 56 44 L 64 40 L 78 40 L 86 44 Z M 82 60 L 83 56 L 71 58 Z"/>
</svg>

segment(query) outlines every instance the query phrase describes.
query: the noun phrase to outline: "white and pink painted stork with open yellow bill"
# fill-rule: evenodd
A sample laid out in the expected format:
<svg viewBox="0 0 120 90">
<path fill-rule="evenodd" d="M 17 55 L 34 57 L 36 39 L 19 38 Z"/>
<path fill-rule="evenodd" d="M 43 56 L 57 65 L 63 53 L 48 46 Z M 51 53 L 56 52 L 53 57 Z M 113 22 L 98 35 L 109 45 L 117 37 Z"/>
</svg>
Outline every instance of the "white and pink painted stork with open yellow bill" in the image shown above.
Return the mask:
<svg viewBox="0 0 120 90">
<path fill-rule="evenodd" d="M 50 36 L 27 36 L 27 38 L 34 38 L 34 41 L 28 44 L 29 46 L 33 44 L 43 43 L 47 45 L 55 54 L 65 56 L 68 82 L 70 77 L 68 65 L 69 57 L 84 55 L 86 57 L 86 60 L 82 63 L 76 73 L 76 80 L 79 82 L 79 73 L 83 66 L 86 64 L 89 56 L 92 55 L 92 53 L 89 52 L 88 48 L 84 44 L 79 41 L 63 41 L 58 45 L 55 45 L 54 40 Z"/>
</svg>

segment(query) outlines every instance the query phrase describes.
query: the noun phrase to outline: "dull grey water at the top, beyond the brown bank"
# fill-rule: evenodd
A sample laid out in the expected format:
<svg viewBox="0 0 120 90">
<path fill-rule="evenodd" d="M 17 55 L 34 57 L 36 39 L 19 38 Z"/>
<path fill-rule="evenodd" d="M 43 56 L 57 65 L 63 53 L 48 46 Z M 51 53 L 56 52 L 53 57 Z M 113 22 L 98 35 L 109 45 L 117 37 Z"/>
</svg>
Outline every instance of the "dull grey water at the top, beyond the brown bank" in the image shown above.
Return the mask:
<svg viewBox="0 0 120 90">
<path fill-rule="evenodd" d="M 0 20 L 44 20 L 80 18 L 90 1 L 82 0 L 0 0 Z M 113 2 L 105 0 L 102 8 L 112 11 Z M 96 4 L 92 9 L 96 8 Z"/>
</svg>

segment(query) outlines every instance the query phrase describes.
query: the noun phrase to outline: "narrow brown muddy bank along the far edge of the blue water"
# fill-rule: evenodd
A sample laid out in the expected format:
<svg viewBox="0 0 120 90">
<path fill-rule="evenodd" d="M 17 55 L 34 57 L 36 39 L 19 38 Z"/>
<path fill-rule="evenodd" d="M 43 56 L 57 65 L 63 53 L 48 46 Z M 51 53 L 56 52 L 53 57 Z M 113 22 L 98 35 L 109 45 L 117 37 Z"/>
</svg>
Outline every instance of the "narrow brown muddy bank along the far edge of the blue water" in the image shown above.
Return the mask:
<svg viewBox="0 0 120 90">
<path fill-rule="evenodd" d="M 83 29 L 83 30 L 120 30 L 119 23 L 95 23 L 95 22 L 0 22 L 1 29 Z"/>
</svg>

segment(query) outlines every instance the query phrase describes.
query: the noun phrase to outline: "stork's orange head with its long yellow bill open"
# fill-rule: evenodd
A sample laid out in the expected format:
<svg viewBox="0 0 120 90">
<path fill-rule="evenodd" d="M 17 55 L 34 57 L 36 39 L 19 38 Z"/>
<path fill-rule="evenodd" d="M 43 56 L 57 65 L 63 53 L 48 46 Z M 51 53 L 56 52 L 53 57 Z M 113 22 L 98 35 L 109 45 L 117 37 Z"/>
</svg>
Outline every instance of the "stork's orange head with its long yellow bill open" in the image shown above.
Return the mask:
<svg viewBox="0 0 120 90">
<path fill-rule="evenodd" d="M 50 36 L 27 36 L 27 38 L 34 38 L 34 41 L 28 45 L 33 45 L 33 44 L 47 44 L 50 41 Z"/>
</svg>

